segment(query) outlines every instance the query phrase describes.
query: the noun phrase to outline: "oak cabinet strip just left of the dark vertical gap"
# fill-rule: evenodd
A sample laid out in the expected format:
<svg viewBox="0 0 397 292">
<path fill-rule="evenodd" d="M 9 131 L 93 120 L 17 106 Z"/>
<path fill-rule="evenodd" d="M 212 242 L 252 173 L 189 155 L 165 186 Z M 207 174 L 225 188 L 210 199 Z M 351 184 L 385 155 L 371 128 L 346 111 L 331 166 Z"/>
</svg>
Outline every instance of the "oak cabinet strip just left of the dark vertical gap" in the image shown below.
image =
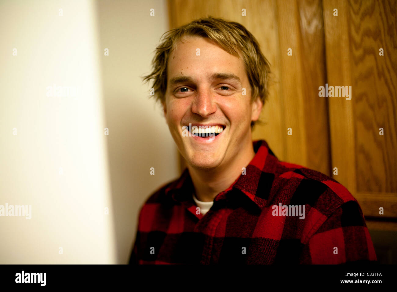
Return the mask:
<svg viewBox="0 0 397 292">
<path fill-rule="evenodd" d="M 287 160 L 330 175 L 328 103 L 318 97 L 326 79 L 322 2 L 277 3 L 285 128 L 293 128 Z"/>
</svg>

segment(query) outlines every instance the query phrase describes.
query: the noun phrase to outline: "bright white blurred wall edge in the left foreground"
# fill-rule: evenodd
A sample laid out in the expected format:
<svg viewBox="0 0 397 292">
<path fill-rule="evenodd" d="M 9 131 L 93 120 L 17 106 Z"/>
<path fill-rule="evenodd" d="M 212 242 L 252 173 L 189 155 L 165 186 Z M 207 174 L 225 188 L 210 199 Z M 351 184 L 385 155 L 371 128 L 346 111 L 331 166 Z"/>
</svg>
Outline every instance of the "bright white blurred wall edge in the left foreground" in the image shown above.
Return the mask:
<svg viewBox="0 0 397 292">
<path fill-rule="evenodd" d="M 117 262 L 95 12 L 0 2 L 0 205 L 32 208 L 0 217 L 1 264 Z M 53 84 L 79 94 L 47 96 Z"/>
</svg>

